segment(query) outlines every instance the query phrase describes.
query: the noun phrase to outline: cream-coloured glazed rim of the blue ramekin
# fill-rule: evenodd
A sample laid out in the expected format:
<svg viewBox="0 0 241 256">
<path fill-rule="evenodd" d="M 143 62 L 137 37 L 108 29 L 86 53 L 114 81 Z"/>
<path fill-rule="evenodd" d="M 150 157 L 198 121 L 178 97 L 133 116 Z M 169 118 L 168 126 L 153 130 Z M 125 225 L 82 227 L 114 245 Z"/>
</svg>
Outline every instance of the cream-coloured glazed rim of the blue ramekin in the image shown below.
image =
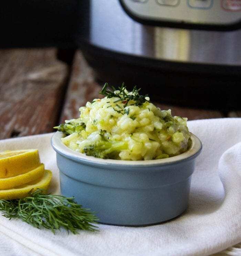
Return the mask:
<svg viewBox="0 0 241 256">
<path fill-rule="evenodd" d="M 62 141 L 61 138 L 64 136 L 63 132 L 56 131 L 51 138 L 51 145 L 53 149 L 60 155 L 74 160 L 76 162 L 86 163 L 89 165 L 115 165 L 115 166 L 128 166 L 128 167 L 150 167 L 150 166 L 162 166 L 176 164 L 177 162 L 191 160 L 196 158 L 202 149 L 202 143 L 200 139 L 191 133 L 190 139 L 192 141 L 191 147 L 184 153 L 163 158 L 163 159 L 154 159 L 154 160 L 117 160 L 117 159 L 102 159 L 93 156 L 86 156 L 83 153 L 74 151 L 73 149 L 68 148 Z"/>
</svg>

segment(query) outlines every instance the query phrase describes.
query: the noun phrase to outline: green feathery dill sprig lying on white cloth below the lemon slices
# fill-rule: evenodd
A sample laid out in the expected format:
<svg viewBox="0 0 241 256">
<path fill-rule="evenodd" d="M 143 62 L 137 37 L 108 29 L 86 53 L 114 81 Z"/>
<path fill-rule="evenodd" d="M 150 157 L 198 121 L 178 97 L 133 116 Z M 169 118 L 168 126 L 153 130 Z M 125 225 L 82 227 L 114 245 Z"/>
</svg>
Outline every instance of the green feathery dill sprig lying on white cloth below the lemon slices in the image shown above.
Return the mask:
<svg viewBox="0 0 241 256">
<path fill-rule="evenodd" d="M 95 231 L 97 217 L 73 199 L 37 189 L 22 199 L 0 200 L 0 211 L 4 217 L 20 218 L 33 227 L 51 229 L 54 234 L 61 227 L 73 234 L 78 234 L 78 229 Z"/>
</svg>

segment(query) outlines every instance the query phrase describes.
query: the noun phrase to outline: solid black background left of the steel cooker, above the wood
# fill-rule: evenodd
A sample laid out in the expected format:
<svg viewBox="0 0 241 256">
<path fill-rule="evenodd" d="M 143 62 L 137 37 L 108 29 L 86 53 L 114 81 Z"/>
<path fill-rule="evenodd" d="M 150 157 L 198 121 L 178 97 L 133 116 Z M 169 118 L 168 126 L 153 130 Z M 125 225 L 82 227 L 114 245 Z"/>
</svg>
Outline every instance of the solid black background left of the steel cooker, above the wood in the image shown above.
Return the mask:
<svg viewBox="0 0 241 256">
<path fill-rule="evenodd" d="M 0 47 L 75 47 L 80 0 L 1 1 Z"/>
</svg>

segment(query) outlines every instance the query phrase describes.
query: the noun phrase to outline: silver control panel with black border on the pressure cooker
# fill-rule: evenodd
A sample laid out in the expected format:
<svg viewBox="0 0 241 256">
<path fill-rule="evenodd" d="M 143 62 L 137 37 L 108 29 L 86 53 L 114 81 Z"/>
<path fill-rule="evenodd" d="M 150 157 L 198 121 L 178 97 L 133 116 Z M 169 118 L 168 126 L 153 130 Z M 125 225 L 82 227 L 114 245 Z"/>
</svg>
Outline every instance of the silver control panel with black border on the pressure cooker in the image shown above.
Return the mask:
<svg viewBox="0 0 241 256">
<path fill-rule="evenodd" d="M 165 27 L 172 22 L 177 28 L 231 30 L 241 22 L 241 0 L 119 1 L 133 20 L 152 26 Z"/>
</svg>

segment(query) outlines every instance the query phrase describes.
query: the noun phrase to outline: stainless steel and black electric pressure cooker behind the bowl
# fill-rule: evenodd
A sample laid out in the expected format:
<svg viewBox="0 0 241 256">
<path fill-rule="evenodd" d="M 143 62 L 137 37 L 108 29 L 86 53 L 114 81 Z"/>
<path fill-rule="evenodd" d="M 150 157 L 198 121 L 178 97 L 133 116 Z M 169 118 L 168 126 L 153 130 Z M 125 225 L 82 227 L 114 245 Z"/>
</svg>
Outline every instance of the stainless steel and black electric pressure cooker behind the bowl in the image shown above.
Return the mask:
<svg viewBox="0 0 241 256">
<path fill-rule="evenodd" d="M 152 100 L 240 109 L 241 0 L 82 1 L 75 42 L 96 78 Z"/>
</svg>

